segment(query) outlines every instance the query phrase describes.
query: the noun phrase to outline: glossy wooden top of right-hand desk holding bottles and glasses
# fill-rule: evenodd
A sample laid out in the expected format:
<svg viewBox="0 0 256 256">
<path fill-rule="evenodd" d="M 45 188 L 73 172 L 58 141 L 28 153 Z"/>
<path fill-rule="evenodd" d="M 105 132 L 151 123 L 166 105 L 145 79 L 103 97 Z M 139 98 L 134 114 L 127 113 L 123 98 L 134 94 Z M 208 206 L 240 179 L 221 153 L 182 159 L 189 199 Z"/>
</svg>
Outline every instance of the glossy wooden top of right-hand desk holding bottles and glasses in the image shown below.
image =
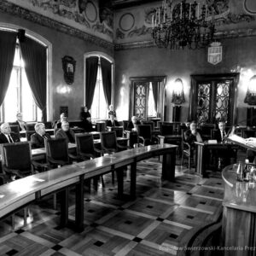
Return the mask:
<svg viewBox="0 0 256 256">
<path fill-rule="evenodd" d="M 225 183 L 224 207 L 256 212 L 256 183 L 236 181 L 237 165 L 226 166 L 222 172 Z"/>
</svg>

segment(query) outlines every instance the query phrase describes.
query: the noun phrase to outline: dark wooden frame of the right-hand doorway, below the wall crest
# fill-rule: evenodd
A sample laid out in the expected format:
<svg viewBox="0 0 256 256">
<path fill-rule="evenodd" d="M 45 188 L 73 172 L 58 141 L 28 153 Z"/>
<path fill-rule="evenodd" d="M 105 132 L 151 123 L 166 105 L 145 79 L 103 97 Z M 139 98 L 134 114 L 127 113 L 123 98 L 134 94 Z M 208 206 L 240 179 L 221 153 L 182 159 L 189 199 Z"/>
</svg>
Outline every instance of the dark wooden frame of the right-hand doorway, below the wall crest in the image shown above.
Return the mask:
<svg viewBox="0 0 256 256">
<path fill-rule="evenodd" d="M 195 119 L 195 102 L 196 102 L 196 84 L 198 82 L 207 82 L 214 80 L 232 80 L 233 90 L 230 91 L 230 113 L 231 119 L 228 125 L 235 125 L 237 122 L 237 84 L 239 82 L 240 73 L 216 73 L 216 74 L 195 74 L 190 75 L 191 90 L 189 95 L 189 119 Z"/>
</svg>

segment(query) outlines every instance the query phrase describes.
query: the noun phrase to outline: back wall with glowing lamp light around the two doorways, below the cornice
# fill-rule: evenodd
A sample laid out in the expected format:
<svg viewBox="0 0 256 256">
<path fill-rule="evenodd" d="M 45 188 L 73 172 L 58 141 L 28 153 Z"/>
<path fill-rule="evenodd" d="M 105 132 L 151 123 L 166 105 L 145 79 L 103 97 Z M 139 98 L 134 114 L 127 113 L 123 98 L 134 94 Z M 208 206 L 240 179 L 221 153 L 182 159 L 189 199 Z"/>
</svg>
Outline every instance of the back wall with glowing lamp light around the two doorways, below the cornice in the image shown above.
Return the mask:
<svg viewBox="0 0 256 256">
<path fill-rule="evenodd" d="M 240 73 L 237 90 L 238 121 L 246 118 L 247 104 L 243 103 L 247 82 L 256 73 L 256 38 L 222 40 L 223 61 L 217 65 L 207 62 L 207 49 L 170 50 L 142 48 L 115 52 L 115 107 L 119 119 L 129 118 L 130 77 L 166 75 L 166 119 L 172 120 L 172 90 L 175 79 L 183 79 L 185 103 L 181 121 L 188 117 L 191 74 Z M 246 122 L 244 122 L 246 124 Z"/>
</svg>

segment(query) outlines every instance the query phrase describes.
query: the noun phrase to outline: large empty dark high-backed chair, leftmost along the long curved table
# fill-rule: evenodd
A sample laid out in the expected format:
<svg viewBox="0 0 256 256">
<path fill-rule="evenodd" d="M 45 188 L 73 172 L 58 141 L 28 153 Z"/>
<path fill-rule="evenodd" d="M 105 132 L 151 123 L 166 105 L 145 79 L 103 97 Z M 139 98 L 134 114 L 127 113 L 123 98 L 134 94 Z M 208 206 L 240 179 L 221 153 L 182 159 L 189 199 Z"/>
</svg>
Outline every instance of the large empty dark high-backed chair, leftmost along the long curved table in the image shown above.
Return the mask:
<svg viewBox="0 0 256 256">
<path fill-rule="evenodd" d="M 9 178 L 26 177 L 35 173 L 36 167 L 47 165 L 32 160 L 30 143 L 4 143 L 1 145 L 3 173 Z"/>
</svg>

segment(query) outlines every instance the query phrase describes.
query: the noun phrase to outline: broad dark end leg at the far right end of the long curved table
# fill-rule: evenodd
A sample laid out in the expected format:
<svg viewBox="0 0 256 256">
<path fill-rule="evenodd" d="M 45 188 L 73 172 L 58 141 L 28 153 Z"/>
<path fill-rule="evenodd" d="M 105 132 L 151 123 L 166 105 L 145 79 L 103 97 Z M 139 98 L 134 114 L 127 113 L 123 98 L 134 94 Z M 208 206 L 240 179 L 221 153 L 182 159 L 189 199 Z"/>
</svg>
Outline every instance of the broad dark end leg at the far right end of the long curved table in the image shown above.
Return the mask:
<svg viewBox="0 0 256 256">
<path fill-rule="evenodd" d="M 175 181 L 176 148 L 163 155 L 162 178 L 168 181 Z"/>
</svg>

